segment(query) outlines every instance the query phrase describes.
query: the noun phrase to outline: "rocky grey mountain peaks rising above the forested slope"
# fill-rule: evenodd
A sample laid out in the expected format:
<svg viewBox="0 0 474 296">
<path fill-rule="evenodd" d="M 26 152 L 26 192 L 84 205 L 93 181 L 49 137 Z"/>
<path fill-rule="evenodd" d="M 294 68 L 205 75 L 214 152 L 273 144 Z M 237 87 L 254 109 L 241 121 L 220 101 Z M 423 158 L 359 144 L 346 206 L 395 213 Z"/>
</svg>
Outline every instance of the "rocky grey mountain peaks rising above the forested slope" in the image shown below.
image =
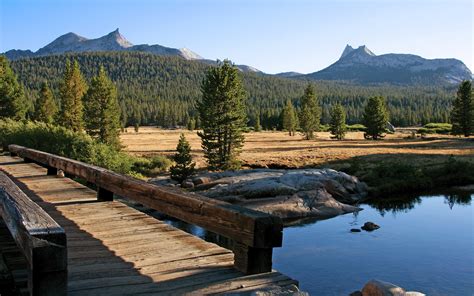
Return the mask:
<svg viewBox="0 0 474 296">
<path fill-rule="evenodd" d="M 31 50 L 9 50 L 5 52 L 10 60 L 50 56 L 63 53 L 137 51 L 162 56 L 178 56 L 186 60 L 197 60 L 215 64 L 187 48 L 171 48 L 162 45 L 133 45 L 115 30 L 103 37 L 88 39 L 75 33 L 67 33 L 36 52 Z M 237 65 L 243 72 L 265 74 L 248 66 Z M 285 72 L 276 76 L 289 79 L 338 80 L 355 84 L 456 84 L 472 79 L 471 71 L 457 59 L 425 59 L 412 54 L 375 55 L 365 45 L 353 48 L 347 45 L 341 57 L 329 67 L 309 74 Z"/>
</svg>

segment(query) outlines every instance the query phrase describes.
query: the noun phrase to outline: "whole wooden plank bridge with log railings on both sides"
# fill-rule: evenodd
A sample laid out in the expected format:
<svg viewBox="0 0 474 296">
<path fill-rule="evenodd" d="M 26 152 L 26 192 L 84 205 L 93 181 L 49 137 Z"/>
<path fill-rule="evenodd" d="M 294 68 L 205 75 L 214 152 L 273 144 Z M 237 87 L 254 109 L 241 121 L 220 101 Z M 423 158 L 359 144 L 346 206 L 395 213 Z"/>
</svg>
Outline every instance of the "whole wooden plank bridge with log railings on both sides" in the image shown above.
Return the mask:
<svg viewBox="0 0 474 296">
<path fill-rule="evenodd" d="M 298 285 L 272 270 L 272 249 L 282 243 L 277 217 L 41 151 L 9 150 L 0 156 L 0 289 L 3 281 L 25 295 L 204 295 Z M 225 236 L 232 251 L 114 195 Z"/>
</svg>

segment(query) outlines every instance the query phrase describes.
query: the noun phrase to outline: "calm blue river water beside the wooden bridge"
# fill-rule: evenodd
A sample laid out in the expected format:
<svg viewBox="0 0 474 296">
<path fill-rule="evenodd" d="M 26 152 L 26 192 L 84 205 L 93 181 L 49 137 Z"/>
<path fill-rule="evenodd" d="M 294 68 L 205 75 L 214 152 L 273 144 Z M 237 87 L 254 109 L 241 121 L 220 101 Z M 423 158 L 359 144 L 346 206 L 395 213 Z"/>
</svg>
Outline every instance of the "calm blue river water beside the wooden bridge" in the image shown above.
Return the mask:
<svg viewBox="0 0 474 296">
<path fill-rule="evenodd" d="M 311 295 L 348 295 L 373 278 L 427 295 L 474 295 L 473 196 L 384 201 L 362 205 L 358 214 L 287 227 L 274 268 Z M 367 221 L 381 228 L 349 232 Z M 216 240 L 198 227 L 171 223 Z"/>
</svg>

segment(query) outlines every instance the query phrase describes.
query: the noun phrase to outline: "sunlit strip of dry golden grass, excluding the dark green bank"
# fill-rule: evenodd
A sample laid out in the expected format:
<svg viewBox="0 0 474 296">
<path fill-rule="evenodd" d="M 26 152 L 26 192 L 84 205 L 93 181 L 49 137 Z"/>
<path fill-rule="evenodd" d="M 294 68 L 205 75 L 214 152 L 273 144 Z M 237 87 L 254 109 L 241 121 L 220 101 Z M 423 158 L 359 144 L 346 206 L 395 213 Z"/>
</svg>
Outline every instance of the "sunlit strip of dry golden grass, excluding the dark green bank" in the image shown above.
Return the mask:
<svg viewBox="0 0 474 296">
<path fill-rule="evenodd" d="M 205 162 L 200 138 L 196 132 L 187 130 L 162 130 L 141 127 L 138 133 L 133 128 L 121 135 L 125 150 L 135 155 L 172 155 L 175 153 L 180 133 L 191 143 L 192 154 L 198 167 Z M 317 133 L 315 140 L 303 140 L 301 135 L 288 136 L 286 132 L 251 132 L 240 158 L 243 164 L 252 167 L 305 167 L 348 160 L 356 156 L 370 159 L 408 159 L 416 156 L 423 161 L 449 155 L 474 160 L 474 141 L 452 136 L 434 135 L 425 139 L 408 139 L 408 133 L 387 135 L 381 141 L 369 141 L 362 132 L 351 132 L 343 141 L 330 138 L 327 132 Z"/>
</svg>

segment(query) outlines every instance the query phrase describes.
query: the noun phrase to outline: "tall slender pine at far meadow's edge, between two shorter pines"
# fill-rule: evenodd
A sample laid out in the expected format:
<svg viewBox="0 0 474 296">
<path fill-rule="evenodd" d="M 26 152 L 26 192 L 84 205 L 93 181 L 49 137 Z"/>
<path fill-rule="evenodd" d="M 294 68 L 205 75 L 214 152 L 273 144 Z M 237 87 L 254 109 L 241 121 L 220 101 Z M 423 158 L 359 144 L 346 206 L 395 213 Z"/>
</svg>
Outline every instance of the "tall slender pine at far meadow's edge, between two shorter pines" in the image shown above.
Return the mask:
<svg viewBox="0 0 474 296">
<path fill-rule="evenodd" d="M 318 106 L 314 87 L 309 84 L 301 98 L 300 126 L 306 140 L 314 138 L 314 132 L 319 131 L 321 108 Z"/>
</svg>

